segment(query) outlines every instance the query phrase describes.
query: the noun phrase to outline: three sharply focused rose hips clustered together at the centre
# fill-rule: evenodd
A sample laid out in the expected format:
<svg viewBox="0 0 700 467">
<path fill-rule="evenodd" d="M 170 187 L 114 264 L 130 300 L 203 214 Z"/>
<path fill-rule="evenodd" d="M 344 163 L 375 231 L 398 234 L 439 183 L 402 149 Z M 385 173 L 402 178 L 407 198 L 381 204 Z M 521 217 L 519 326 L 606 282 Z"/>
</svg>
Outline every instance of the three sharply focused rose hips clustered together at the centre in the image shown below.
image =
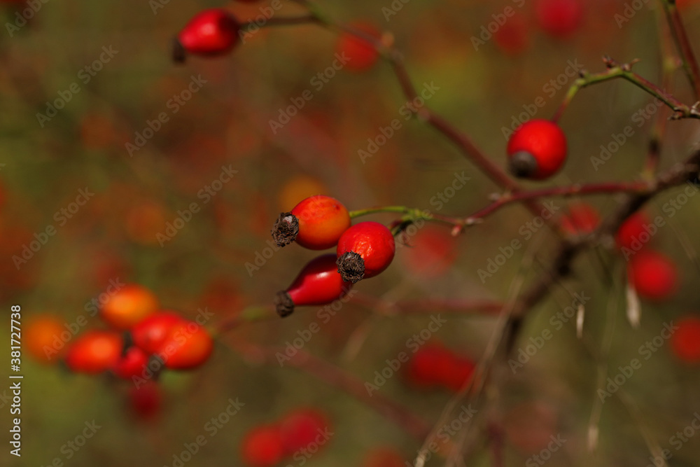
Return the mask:
<svg viewBox="0 0 700 467">
<path fill-rule="evenodd" d="M 276 297 L 280 316 L 295 306 L 326 305 L 341 298 L 352 284 L 386 270 L 395 253 L 391 230 L 377 222 L 351 225 L 346 207 L 332 197 L 307 197 L 277 218 L 272 238 L 278 246 L 296 242 L 311 250 L 336 247 L 311 260 L 286 291 Z"/>
</svg>

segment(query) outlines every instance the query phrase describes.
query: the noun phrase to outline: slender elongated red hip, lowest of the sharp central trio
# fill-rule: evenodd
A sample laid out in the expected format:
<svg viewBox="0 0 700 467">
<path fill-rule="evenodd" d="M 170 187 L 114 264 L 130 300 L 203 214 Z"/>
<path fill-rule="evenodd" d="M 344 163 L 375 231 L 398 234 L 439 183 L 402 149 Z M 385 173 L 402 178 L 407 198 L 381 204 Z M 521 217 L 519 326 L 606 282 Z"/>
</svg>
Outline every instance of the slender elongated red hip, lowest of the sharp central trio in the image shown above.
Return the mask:
<svg viewBox="0 0 700 467">
<path fill-rule="evenodd" d="M 352 287 L 343 281 L 335 265 L 335 254 L 328 253 L 309 261 L 286 291 L 277 292 L 277 314 L 289 316 L 295 306 L 327 305 L 341 298 Z"/>
</svg>

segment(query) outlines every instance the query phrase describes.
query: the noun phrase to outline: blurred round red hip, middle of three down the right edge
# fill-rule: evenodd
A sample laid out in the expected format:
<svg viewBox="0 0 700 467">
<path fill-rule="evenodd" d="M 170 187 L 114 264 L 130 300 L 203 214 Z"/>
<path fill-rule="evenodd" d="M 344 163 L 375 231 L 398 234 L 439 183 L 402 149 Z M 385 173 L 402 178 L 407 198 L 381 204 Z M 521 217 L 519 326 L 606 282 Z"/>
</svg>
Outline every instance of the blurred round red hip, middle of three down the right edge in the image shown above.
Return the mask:
<svg viewBox="0 0 700 467">
<path fill-rule="evenodd" d="M 641 251 L 631 258 L 629 279 L 638 295 L 648 300 L 666 300 L 678 288 L 675 263 L 655 251 Z"/>
</svg>

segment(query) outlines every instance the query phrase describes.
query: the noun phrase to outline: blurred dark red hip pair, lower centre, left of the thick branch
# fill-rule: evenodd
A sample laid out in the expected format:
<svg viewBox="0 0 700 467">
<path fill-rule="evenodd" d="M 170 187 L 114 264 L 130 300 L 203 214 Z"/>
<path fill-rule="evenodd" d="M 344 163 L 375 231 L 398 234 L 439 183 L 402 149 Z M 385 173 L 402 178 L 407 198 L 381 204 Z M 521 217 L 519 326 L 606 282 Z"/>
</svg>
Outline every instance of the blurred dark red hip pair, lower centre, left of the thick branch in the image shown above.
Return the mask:
<svg viewBox="0 0 700 467">
<path fill-rule="evenodd" d="M 443 344 L 426 344 L 411 358 L 404 376 L 409 384 L 420 389 L 459 391 L 475 368 L 471 358 L 456 354 Z"/>
</svg>

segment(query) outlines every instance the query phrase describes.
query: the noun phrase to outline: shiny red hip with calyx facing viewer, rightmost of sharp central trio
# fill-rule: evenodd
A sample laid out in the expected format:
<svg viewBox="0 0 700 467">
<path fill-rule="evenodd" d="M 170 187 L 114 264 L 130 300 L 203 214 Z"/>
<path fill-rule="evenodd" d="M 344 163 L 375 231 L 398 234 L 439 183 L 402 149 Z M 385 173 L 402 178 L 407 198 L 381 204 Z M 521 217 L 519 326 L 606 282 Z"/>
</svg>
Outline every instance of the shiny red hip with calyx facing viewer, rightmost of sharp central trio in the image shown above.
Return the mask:
<svg viewBox="0 0 700 467">
<path fill-rule="evenodd" d="M 338 272 L 353 284 L 374 277 L 391 264 L 396 245 L 391 230 L 378 222 L 353 225 L 338 240 Z"/>
</svg>

